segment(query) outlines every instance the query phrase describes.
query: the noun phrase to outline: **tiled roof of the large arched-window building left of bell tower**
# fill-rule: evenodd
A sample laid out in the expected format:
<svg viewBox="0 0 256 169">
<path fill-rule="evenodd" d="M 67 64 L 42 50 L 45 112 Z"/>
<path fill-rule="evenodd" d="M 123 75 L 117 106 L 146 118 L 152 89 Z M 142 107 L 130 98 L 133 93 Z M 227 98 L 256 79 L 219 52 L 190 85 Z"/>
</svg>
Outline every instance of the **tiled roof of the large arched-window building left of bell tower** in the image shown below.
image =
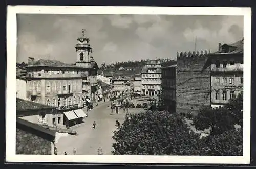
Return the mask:
<svg viewBox="0 0 256 169">
<path fill-rule="evenodd" d="M 45 67 L 72 67 L 72 68 L 81 68 L 72 64 L 67 64 L 67 63 L 63 63 L 60 62 L 58 60 L 49 60 L 49 59 L 40 59 L 38 61 L 36 61 L 33 65 L 29 65 L 27 67 L 41 67 L 41 66 L 45 66 Z"/>
</svg>

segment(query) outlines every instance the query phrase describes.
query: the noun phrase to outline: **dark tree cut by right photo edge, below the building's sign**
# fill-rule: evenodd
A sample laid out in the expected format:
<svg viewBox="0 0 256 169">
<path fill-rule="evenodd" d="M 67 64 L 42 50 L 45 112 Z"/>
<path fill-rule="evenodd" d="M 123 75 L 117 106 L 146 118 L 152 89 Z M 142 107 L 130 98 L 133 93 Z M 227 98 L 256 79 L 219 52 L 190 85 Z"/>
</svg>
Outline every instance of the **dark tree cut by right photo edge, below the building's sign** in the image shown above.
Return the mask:
<svg viewBox="0 0 256 169">
<path fill-rule="evenodd" d="M 243 127 L 243 103 L 244 103 L 243 92 L 238 94 L 237 98 L 233 97 L 229 103 L 226 105 L 227 109 L 230 111 L 234 123 Z"/>
</svg>

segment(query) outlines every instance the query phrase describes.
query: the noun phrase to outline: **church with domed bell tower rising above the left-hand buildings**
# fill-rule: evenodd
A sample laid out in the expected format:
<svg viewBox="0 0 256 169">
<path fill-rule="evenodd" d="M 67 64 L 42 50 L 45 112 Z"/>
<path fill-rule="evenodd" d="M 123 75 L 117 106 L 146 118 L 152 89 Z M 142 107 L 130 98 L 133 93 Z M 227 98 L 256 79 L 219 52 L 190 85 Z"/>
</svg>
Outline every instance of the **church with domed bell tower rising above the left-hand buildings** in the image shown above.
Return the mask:
<svg viewBox="0 0 256 169">
<path fill-rule="evenodd" d="M 84 36 L 82 30 L 82 36 L 77 38 L 75 45 L 76 49 L 76 66 L 82 67 L 82 99 L 87 102 L 97 101 L 97 71 L 99 69 L 97 63 L 91 56 L 92 47 L 89 43 L 89 38 Z"/>
</svg>

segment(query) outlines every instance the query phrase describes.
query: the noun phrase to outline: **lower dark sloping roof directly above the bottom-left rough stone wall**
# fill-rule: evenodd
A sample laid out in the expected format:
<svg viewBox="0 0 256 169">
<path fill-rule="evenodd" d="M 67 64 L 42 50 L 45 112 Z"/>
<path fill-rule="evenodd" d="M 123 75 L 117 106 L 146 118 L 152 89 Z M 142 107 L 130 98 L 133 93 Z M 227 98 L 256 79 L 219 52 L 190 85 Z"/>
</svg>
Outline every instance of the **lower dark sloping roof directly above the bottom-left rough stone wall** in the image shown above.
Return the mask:
<svg viewBox="0 0 256 169">
<path fill-rule="evenodd" d="M 55 134 L 56 134 L 56 131 L 54 131 L 54 130 L 46 129 L 44 127 L 41 127 L 37 124 L 28 122 L 27 120 L 24 120 L 24 119 L 21 119 L 21 118 L 18 118 L 18 117 L 16 117 L 16 123 L 17 123 L 17 128 L 19 127 L 19 125 L 23 125 L 23 126 L 41 131 L 43 133 L 46 133 L 46 134 L 54 136 L 54 137 L 55 137 Z"/>
</svg>

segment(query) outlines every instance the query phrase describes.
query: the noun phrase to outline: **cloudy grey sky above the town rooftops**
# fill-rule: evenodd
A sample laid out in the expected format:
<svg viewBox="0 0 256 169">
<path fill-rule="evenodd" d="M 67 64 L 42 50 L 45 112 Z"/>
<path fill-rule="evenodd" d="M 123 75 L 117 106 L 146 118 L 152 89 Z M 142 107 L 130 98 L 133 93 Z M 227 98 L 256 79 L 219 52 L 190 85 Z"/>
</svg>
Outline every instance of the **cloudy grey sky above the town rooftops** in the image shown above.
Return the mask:
<svg viewBox="0 0 256 169">
<path fill-rule="evenodd" d="M 17 62 L 75 63 L 82 29 L 97 64 L 176 60 L 178 52 L 217 51 L 243 38 L 243 16 L 17 14 Z M 197 39 L 197 40 L 196 40 Z"/>
</svg>

